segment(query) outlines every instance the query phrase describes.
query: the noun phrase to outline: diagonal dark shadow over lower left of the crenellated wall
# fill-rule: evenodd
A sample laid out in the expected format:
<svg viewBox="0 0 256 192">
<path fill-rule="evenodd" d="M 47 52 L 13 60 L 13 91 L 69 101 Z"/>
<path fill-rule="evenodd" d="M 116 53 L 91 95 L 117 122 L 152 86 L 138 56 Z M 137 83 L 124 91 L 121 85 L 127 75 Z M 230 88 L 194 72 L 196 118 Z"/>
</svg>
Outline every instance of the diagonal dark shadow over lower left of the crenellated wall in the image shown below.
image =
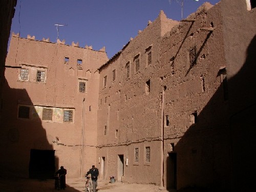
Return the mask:
<svg viewBox="0 0 256 192">
<path fill-rule="evenodd" d="M 7 69 L 15 70 L 15 69 Z M 2 177 L 52 179 L 58 169 L 46 130 L 26 89 L 12 89 L 4 81 L 0 130 Z"/>
</svg>

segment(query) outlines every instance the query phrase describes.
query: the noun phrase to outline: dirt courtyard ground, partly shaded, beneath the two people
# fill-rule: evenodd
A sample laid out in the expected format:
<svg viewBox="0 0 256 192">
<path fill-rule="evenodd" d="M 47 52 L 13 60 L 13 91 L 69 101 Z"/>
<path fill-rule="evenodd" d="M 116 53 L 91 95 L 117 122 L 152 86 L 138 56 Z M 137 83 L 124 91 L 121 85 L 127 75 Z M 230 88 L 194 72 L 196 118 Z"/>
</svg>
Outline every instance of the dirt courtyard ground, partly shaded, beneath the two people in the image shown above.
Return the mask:
<svg viewBox="0 0 256 192">
<path fill-rule="evenodd" d="M 66 179 L 67 192 L 84 191 L 85 179 Z M 36 180 L 36 179 L 3 179 L 0 178 L 1 192 L 56 192 L 54 189 L 54 180 Z M 147 184 L 128 184 L 123 182 L 100 181 L 98 180 L 97 192 L 168 192 L 166 189 L 156 185 Z"/>
</svg>

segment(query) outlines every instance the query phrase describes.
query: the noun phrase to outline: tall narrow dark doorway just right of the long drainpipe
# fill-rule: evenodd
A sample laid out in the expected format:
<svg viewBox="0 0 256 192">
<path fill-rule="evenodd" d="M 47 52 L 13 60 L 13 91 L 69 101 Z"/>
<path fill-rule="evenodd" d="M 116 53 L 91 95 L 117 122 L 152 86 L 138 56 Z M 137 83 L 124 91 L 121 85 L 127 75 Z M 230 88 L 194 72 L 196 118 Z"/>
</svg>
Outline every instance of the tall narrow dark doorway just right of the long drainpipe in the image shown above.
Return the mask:
<svg viewBox="0 0 256 192">
<path fill-rule="evenodd" d="M 177 189 L 177 154 L 169 153 L 167 158 L 167 189 Z"/>
</svg>

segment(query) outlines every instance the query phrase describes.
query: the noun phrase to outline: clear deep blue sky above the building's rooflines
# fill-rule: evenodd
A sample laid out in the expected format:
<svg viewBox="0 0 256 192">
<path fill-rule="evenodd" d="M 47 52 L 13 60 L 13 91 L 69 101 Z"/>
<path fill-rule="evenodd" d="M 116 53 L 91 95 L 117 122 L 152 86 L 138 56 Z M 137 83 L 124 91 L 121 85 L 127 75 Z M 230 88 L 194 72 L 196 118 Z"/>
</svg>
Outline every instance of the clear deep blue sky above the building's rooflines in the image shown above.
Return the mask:
<svg viewBox="0 0 256 192">
<path fill-rule="evenodd" d="M 220 0 L 183 0 L 183 18 L 195 12 L 203 3 L 215 5 Z M 79 47 L 105 47 L 111 58 L 131 37 L 152 22 L 163 10 L 168 18 L 181 20 L 182 0 L 17 0 L 11 32 L 28 34 L 36 40 L 59 39 L 65 44 L 79 42 Z"/>
</svg>

